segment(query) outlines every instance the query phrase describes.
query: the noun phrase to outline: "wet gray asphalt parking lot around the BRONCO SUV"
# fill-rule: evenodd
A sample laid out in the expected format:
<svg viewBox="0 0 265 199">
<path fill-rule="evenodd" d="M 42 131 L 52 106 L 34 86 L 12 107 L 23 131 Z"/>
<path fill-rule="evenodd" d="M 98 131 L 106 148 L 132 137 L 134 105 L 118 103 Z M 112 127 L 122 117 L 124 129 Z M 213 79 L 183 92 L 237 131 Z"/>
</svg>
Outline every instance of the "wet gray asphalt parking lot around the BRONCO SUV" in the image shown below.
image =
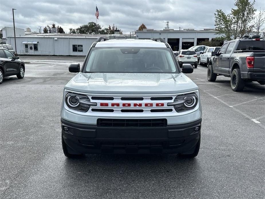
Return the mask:
<svg viewBox="0 0 265 199">
<path fill-rule="evenodd" d="M 23 59 L 23 58 L 22 58 Z M 177 155 L 67 159 L 60 107 L 68 72 L 83 58 L 24 58 L 24 79 L 0 85 L 0 198 L 264 198 L 265 86 L 234 92 L 230 79 L 189 76 L 200 89 L 201 149 Z"/>
</svg>

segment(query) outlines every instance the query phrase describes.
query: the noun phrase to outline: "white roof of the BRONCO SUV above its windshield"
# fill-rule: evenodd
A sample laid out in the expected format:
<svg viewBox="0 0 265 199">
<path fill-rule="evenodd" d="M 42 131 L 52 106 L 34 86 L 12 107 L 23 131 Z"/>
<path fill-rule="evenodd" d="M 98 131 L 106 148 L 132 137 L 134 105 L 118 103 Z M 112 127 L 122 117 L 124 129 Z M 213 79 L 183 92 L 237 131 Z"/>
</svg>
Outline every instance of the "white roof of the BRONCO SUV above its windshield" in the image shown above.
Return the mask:
<svg viewBox="0 0 265 199">
<path fill-rule="evenodd" d="M 166 48 L 163 42 L 156 42 L 153 40 L 139 40 L 139 39 L 111 39 L 107 41 L 97 42 L 95 47 L 158 47 Z"/>
</svg>

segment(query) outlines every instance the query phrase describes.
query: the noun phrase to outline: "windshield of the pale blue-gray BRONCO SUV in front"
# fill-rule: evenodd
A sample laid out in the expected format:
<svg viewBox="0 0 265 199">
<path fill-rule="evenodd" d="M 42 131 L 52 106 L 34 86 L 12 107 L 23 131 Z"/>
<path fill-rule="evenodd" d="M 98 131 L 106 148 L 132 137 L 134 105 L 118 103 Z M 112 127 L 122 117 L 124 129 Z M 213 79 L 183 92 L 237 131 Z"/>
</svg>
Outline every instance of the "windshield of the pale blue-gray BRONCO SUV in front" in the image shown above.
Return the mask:
<svg viewBox="0 0 265 199">
<path fill-rule="evenodd" d="M 169 48 L 92 48 L 83 72 L 179 73 Z"/>
</svg>

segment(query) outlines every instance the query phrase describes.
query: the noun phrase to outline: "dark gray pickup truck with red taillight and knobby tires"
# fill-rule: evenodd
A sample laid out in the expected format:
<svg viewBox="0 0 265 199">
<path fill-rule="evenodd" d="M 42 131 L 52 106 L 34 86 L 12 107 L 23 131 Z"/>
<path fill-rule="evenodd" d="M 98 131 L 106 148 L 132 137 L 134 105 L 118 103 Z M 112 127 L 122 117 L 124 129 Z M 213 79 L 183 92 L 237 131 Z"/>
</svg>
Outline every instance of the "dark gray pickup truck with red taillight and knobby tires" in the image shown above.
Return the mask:
<svg viewBox="0 0 265 199">
<path fill-rule="evenodd" d="M 218 75 L 231 77 L 233 91 L 242 91 L 246 81 L 265 83 L 265 39 L 259 36 L 231 40 L 212 52 L 207 70 L 208 81 Z"/>
</svg>

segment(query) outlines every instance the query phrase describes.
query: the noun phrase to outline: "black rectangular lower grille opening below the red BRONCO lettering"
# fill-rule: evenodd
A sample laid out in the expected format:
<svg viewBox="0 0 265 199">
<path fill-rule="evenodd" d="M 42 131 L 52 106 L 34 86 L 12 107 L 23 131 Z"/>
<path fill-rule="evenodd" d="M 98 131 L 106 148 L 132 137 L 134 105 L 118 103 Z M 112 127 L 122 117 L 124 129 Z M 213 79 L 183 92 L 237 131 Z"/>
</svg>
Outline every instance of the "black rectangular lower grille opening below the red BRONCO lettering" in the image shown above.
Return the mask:
<svg viewBox="0 0 265 199">
<path fill-rule="evenodd" d="M 99 127 L 165 127 L 166 119 L 97 119 Z"/>
</svg>

